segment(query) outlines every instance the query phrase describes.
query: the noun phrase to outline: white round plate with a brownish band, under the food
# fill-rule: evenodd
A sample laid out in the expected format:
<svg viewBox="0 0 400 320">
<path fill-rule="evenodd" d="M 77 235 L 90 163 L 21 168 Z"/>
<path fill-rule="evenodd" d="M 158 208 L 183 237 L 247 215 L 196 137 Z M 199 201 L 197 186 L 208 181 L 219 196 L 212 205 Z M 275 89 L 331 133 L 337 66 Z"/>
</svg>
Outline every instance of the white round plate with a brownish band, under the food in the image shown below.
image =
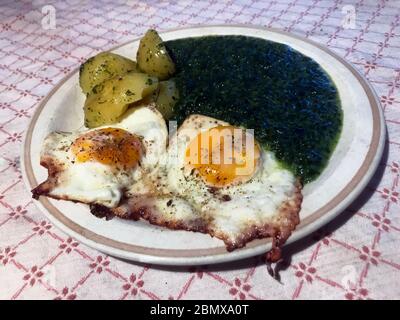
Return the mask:
<svg viewBox="0 0 400 320">
<path fill-rule="evenodd" d="M 385 139 L 385 124 L 376 95 L 366 80 L 342 58 L 292 34 L 226 25 L 161 33 L 164 40 L 204 35 L 247 35 L 290 45 L 319 63 L 339 90 L 344 114 L 343 131 L 326 169 L 317 180 L 304 187 L 301 224 L 288 243 L 296 241 L 342 212 L 372 177 Z M 133 58 L 138 43 L 137 39 L 114 52 Z M 39 164 L 43 139 L 54 130 L 79 129 L 83 123 L 84 98 L 78 84 L 78 70 L 75 70 L 37 108 L 26 132 L 21 157 L 29 189 L 47 177 L 47 171 Z M 261 254 L 271 246 L 270 240 L 254 240 L 245 248 L 228 253 L 222 241 L 208 235 L 171 231 L 144 221 L 104 221 L 90 214 L 86 205 L 67 201 L 41 197 L 35 203 L 67 234 L 107 254 L 134 261 L 167 265 L 211 264 Z"/>
</svg>

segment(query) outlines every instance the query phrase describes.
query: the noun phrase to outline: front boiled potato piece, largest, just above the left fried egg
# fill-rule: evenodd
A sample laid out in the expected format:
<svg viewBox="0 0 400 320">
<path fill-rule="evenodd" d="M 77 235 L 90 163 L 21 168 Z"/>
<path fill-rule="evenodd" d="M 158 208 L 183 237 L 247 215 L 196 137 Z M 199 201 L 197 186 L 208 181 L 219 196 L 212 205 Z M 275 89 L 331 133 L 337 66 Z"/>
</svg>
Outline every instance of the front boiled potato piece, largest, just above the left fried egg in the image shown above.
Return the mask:
<svg viewBox="0 0 400 320">
<path fill-rule="evenodd" d="M 86 98 L 85 125 L 95 128 L 117 122 L 129 104 L 151 95 L 157 88 L 158 79 L 144 73 L 129 72 L 105 80 Z"/>
</svg>

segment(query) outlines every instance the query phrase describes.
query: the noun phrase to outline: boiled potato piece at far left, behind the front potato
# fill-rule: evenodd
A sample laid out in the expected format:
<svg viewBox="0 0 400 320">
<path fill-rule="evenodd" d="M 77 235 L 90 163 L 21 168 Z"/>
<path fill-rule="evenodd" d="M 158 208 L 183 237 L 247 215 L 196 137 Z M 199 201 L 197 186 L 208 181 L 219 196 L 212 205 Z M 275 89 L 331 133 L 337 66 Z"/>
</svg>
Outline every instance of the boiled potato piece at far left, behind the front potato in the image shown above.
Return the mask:
<svg viewBox="0 0 400 320">
<path fill-rule="evenodd" d="M 137 71 L 136 62 L 115 53 L 101 52 L 81 65 L 79 84 L 83 93 L 88 94 L 104 80 L 129 71 Z"/>
</svg>

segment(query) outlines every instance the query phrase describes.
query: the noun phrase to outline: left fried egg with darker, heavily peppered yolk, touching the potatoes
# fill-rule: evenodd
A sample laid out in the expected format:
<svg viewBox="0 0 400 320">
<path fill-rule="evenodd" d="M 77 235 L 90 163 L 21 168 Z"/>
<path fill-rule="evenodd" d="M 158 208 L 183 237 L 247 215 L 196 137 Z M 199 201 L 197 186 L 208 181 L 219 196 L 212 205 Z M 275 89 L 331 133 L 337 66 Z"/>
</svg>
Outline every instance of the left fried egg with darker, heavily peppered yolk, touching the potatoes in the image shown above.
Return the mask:
<svg viewBox="0 0 400 320">
<path fill-rule="evenodd" d="M 115 207 L 126 189 L 157 167 L 167 137 L 154 106 L 133 108 L 117 124 L 50 133 L 41 151 L 48 178 L 33 196 Z"/>
</svg>

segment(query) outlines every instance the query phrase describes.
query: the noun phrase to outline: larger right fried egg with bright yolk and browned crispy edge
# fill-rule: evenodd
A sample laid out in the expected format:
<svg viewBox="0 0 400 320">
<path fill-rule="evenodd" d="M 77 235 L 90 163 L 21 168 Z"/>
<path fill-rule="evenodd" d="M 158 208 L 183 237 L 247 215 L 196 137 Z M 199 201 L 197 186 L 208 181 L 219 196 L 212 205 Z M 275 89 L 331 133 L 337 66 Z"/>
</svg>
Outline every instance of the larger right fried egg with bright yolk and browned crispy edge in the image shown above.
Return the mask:
<svg viewBox="0 0 400 320">
<path fill-rule="evenodd" d="M 162 160 L 147 187 L 133 184 L 113 214 L 208 233 L 229 251 L 256 238 L 279 246 L 299 223 L 300 183 L 251 131 L 192 115 Z"/>
</svg>

